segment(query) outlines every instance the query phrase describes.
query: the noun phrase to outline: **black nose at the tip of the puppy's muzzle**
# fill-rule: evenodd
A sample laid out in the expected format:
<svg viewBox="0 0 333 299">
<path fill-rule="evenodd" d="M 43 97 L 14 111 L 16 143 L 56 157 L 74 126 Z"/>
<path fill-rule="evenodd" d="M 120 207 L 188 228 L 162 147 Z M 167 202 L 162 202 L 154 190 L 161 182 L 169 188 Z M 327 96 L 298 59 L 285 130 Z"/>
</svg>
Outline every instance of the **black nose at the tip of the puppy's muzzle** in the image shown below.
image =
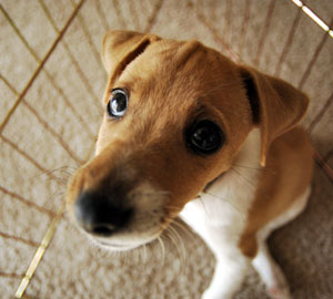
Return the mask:
<svg viewBox="0 0 333 299">
<path fill-rule="evenodd" d="M 74 205 L 79 225 L 88 233 L 104 237 L 120 230 L 129 223 L 132 209 L 114 202 L 99 193 L 82 193 Z"/>
</svg>

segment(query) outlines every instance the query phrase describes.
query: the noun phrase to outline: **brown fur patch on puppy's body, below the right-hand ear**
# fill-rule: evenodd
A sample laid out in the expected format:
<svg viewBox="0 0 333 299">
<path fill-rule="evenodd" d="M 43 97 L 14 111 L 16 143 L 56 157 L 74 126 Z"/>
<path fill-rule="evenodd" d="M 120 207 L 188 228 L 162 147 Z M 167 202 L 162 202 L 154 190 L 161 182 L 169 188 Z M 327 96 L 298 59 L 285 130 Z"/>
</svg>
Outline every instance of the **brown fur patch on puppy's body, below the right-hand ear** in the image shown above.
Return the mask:
<svg viewBox="0 0 333 299">
<path fill-rule="evenodd" d="M 255 199 L 240 239 L 245 256 L 256 255 L 256 233 L 286 212 L 304 194 L 312 178 L 313 148 L 306 133 L 295 127 L 271 145 L 266 167 L 259 177 Z"/>
</svg>

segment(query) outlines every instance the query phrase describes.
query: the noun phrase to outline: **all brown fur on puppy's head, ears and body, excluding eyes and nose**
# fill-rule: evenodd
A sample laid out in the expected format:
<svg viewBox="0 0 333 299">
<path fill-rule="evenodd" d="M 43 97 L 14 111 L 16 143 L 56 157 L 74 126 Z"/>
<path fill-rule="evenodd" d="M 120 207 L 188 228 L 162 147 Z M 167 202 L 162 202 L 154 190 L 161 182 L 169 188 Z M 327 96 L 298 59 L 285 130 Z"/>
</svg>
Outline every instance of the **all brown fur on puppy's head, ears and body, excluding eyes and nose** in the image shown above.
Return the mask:
<svg viewBox="0 0 333 299">
<path fill-rule="evenodd" d="M 102 52 L 109 73 L 104 105 L 114 87 L 129 91 L 130 105 L 121 120 L 104 115 L 95 157 L 69 185 L 69 210 L 83 190 L 108 184 L 130 188 L 149 181 L 169 194 L 165 226 L 206 184 L 231 167 L 249 132 L 260 126 L 261 163 L 266 167 L 240 244 L 245 255 L 253 256 L 255 233 L 285 210 L 309 184 L 310 163 L 305 168 L 300 165 L 311 155 L 304 133 L 294 128 L 279 137 L 305 113 L 306 96 L 196 41 L 113 31 L 103 39 Z M 251 94 L 244 79 L 251 81 Z M 256 123 L 253 104 L 260 109 Z M 226 142 L 218 153 L 203 157 L 184 145 L 184 128 L 195 117 L 208 117 L 223 128 Z"/>
</svg>

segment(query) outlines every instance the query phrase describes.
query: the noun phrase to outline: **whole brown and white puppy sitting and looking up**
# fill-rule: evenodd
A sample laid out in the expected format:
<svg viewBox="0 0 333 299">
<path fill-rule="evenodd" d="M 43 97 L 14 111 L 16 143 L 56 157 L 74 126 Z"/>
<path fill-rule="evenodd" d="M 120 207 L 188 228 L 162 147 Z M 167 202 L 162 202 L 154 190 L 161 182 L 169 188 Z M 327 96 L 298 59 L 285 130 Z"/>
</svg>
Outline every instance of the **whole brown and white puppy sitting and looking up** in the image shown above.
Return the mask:
<svg viewBox="0 0 333 299">
<path fill-rule="evenodd" d="M 291 298 L 265 241 L 310 194 L 313 153 L 296 126 L 307 97 L 198 41 L 111 31 L 102 59 L 95 156 L 67 194 L 79 227 L 129 250 L 180 214 L 216 257 L 203 298 L 232 298 L 251 262 L 271 298 Z"/>
</svg>

